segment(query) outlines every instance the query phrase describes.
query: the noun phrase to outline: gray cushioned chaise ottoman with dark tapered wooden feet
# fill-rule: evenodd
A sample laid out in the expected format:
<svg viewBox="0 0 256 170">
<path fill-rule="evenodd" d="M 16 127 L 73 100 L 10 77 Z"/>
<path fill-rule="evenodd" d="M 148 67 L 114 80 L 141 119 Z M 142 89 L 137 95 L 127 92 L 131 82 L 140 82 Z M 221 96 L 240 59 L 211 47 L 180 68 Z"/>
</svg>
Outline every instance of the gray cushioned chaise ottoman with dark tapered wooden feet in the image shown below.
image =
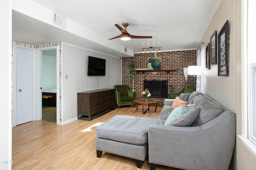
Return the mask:
<svg viewBox="0 0 256 170">
<path fill-rule="evenodd" d="M 164 125 L 165 121 L 146 117 L 116 115 L 96 128 L 96 151 L 133 158 L 141 168 L 148 154 L 149 125 Z"/>
</svg>

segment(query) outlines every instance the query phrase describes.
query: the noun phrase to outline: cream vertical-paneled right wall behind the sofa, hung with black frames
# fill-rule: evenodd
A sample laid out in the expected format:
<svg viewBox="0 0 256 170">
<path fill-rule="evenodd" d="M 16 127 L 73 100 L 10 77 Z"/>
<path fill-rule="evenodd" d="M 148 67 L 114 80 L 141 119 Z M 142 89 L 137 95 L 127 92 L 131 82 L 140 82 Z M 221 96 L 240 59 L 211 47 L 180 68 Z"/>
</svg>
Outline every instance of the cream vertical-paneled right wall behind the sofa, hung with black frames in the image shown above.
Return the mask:
<svg viewBox="0 0 256 170">
<path fill-rule="evenodd" d="M 218 101 L 231 111 L 236 113 L 236 134 L 242 134 L 244 111 L 242 96 L 242 70 L 244 56 L 242 51 L 242 9 L 243 0 L 222 0 L 214 18 L 206 30 L 201 42 L 207 45 L 210 42 L 214 30 L 217 34 L 222 26 L 229 20 L 230 25 L 230 53 L 229 53 L 229 75 L 218 76 L 218 65 L 211 65 L 210 70 L 204 70 L 204 92 Z M 204 56 L 203 56 L 204 57 Z M 205 61 L 205 60 L 203 60 Z M 205 62 L 202 62 L 205 68 Z M 242 144 L 240 138 L 236 137 L 235 167 L 238 170 L 255 169 L 256 157 Z"/>
</svg>

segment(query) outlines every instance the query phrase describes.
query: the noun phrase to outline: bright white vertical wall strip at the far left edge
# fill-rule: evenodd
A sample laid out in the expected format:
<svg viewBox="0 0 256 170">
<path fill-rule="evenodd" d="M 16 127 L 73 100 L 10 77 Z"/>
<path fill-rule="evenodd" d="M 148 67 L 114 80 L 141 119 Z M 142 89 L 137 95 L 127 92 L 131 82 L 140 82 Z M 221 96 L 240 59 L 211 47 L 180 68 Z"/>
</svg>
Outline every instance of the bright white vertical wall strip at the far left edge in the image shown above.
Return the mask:
<svg viewBox="0 0 256 170">
<path fill-rule="evenodd" d="M 12 0 L 1 1 L 0 16 L 0 169 L 10 170 L 12 167 Z"/>
</svg>

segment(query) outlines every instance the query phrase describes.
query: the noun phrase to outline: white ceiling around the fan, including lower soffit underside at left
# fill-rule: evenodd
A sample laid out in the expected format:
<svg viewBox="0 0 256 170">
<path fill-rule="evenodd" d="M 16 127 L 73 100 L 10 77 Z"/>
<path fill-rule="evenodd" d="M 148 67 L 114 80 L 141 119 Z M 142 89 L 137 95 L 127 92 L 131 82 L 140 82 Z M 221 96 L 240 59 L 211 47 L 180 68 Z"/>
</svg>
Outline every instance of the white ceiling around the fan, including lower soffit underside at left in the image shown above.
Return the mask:
<svg viewBox="0 0 256 170">
<path fill-rule="evenodd" d="M 134 52 L 196 48 L 221 0 L 33 0 Z M 128 33 L 151 39 L 122 41 L 114 26 L 128 22 Z M 13 41 L 33 45 L 67 42 L 115 55 L 112 49 L 13 11 Z"/>
</svg>

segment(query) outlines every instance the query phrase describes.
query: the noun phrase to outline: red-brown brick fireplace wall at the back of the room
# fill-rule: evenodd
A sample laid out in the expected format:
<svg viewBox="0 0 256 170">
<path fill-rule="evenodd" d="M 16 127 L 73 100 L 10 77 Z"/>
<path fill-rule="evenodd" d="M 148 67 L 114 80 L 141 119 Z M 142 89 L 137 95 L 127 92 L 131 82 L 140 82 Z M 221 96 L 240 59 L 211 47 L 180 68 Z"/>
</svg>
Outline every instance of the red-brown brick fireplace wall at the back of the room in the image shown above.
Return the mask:
<svg viewBox="0 0 256 170">
<path fill-rule="evenodd" d="M 176 70 L 176 73 L 161 73 L 151 74 L 136 72 L 134 91 L 137 93 L 137 98 L 142 98 L 142 91 L 144 90 L 144 80 L 168 80 L 168 93 L 171 92 L 171 86 L 174 89 L 172 92 L 180 92 L 187 85 L 194 85 L 194 77 L 189 75 L 188 81 L 185 81 L 183 68 L 190 65 L 196 65 L 196 49 L 184 51 L 165 51 L 155 53 L 136 53 L 134 57 L 122 58 L 122 84 L 126 84 L 132 89 L 132 82 L 130 81 L 129 64 L 134 60 L 135 69 L 146 69 L 148 67 L 148 57 L 161 57 L 161 70 L 171 69 Z M 150 89 L 149 89 L 150 90 Z M 159 105 L 163 105 L 164 99 L 158 99 Z"/>
</svg>

